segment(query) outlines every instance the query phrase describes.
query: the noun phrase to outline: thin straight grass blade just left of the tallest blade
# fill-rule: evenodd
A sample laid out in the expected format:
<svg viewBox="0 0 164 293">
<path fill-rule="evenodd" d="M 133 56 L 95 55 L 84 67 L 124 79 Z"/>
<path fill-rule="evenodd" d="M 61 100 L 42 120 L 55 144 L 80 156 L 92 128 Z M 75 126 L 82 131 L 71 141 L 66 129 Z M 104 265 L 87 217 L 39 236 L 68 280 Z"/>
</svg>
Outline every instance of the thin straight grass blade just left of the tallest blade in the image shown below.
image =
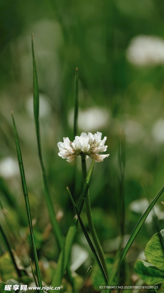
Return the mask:
<svg viewBox="0 0 164 293">
<path fill-rule="evenodd" d="M 38 257 L 37 257 L 37 253 L 36 253 L 36 247 L 35 247 L 34 236 L 33 236 L 31 211 L 30 211 L 30 205 L 29 205 L 29 197 L 28 197 L 28 193 L 27 193 L 27 186 L 26 186 L 25 172 L 24 172 L 23 161 L 22 161 L 22 154 L 21 154 L 21 150 L 20 150 L 18 134 L 17 134 L 17 129 L 16 129 L 15 121 L 14 121 L 13 112 L 11 112 L 11 115 L 12 115 L 12 120 L 13 120 L 15 145 L 16 145 L 17 154 L 18 154 L 18 163 L 19 163 L 19 168 L 20 168 L 22 189 L 23 189 L 23 194 L 25 197 L 27 217 L 28 217 L 28 222 L 29 222 L 29 230 L 30 230 L 30 236 L 31 236 L 32 252 L 33 252 L 35 268 L 36 268 L 36 275 L 37 275 L 39 287 L 42 288 L 41 273 L 40 273 L 40 269 L 39 269 Z M 43 290 L 40 289 L 40 292 L 43 293 Z"/>
</svg>

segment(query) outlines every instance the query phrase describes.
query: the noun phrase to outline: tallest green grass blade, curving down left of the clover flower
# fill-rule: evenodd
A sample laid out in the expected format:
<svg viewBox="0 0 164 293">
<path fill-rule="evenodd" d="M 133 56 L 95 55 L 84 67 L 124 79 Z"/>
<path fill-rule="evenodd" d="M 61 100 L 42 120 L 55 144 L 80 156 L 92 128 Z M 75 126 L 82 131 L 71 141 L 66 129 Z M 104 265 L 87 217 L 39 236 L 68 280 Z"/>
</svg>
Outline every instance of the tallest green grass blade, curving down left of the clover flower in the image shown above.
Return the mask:
<svg viewBox="0 0 164 293">
<path fill-rule="evenodd" d="M 34 119 L 35 119 L 36 136 L 37 136 L 37 143 L 38 143 L 39 160 L 40 160 L 41 169 L 42 169 L 44 192 L 45 192 L 45 199 L 46 199 L 48 214 L 49 214 L 50 222 L 52 224 L 53 233 L 56 237 L 57 245 L 59 247 L 59 250 L 61 251 L 63 246 L 62 234 L 56 219 L 55 211 L 53 208 L 53 202 L 49 193 L 48 183 L 46 178 L 46 171 L 44 168 L 42 152 L 41 152 L 41 139 L 40 139 L 40 127 L 39 127 L 39 88 L 38 88 L 38 78 L 37 78 L 37 72 L 36 72 L 36 62 L 35 62 L 35 56 L 34 56 L 33 34 L 32 34 L 32 57 L 33 57 Z"/>
</svg>

